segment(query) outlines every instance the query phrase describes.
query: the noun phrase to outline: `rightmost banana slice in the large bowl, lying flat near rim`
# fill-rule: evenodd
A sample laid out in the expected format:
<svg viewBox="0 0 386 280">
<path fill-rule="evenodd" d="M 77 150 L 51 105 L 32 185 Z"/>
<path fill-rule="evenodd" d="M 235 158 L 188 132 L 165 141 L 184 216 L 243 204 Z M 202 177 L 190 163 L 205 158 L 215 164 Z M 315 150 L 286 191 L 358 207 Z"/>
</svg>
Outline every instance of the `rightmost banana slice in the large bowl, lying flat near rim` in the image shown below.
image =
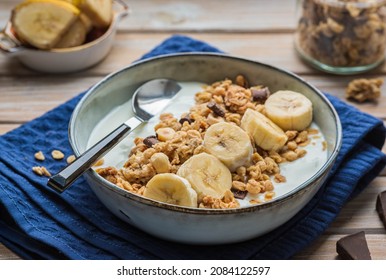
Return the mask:
<svg viewBox="0 0 386 280">
<path fill-rule="evenodd" d="M 312 103 L 303 94 L 279 90 L 265 102 L 268 118 L 283 130 L 301 131 L 312 122 Z"/>
</svg>

